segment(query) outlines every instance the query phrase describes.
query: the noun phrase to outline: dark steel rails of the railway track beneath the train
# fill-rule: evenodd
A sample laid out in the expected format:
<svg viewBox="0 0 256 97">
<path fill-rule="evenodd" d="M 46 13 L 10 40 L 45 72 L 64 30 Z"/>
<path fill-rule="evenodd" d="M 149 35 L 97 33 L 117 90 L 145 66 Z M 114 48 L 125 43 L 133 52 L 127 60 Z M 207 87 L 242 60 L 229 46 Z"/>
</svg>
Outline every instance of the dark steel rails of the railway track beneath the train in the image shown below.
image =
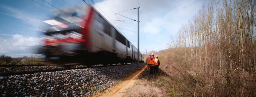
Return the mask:
<svg viewBox="0 0 256 97">
<path fill-rule="evenodd" d="M 107 65 L 107 66 L 89 66 L 89 67 L 64 68 L 64 69 L 52 69 L 52 70 L 34 70 L 34 71 L 7 72 L 7 73 L 0 73 L 0 76 L 33 74 L 33 73 L 41 73 L 41 72 L 54 72 L 54 71 L 73 70 L 73 69 L 99 68 L 99 67 L 108 67 L 108 66 L 123 66 L 123 65 L 130 65 L 130 64 Z M 75 65 L 82 65 L 82 64 L 73 64 L 73 65 L 67 65 L 66 64 L 66 65 L 57 65 L 57 66 L 75 66 Z M 40 65 L 29 65 L 29 66 L 42 66 L 42 64 L 40 64 Z M 49 66 L 49 65 L 46 65 L 46 66 Z"/>
</svg>

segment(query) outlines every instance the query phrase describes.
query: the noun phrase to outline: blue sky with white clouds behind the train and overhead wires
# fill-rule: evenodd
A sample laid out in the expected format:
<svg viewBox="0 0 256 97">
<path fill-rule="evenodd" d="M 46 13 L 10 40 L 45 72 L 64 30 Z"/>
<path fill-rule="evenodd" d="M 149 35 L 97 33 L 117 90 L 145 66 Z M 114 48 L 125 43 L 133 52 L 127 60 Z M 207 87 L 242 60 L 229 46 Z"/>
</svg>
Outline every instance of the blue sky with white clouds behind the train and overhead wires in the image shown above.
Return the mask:
<svg viewBox="0 0 256 97">
<path fill-rule="evenodd" d="M 31 56 L 33 52 L 31 48 L 38 45 L 41 40 L 42 31 L 38 30 L 45 28 L 42 21 L 50 20 L 53 10 L 70 7 L 70 5 L 85 5 L 82 0 L 63 0 L 69 5 L 62 0 L 34 1 L 0 0 L 0 54 L 11 57 Z M 147 52 L 167 49 L 166 44 L 170 36 L 175 36 L 179 27 L 187 23 L 200 10 L 204 2 L 204 0 L 104 0 L 104 2 L 93 0 L 98 8 L 91 1 L 85 1 L 92 4 L 114 26 L 119 27 L 118 30 L 136 47 L 138 45 L 137 22 L 117 23 L 116 20 L 118 18 L 119 20 L 128 18 L 137 20 L 137 9 L 125 10 L 137 8 L 140 5 L 142 16 L 142 18 L 140 16 L 140 50 L 142 53 L 145 53 L 145 49 Z M 116 16 L 110 8 L 115 13 L 125 11 L 118 14 L 128 18 Z"/>
</svg>

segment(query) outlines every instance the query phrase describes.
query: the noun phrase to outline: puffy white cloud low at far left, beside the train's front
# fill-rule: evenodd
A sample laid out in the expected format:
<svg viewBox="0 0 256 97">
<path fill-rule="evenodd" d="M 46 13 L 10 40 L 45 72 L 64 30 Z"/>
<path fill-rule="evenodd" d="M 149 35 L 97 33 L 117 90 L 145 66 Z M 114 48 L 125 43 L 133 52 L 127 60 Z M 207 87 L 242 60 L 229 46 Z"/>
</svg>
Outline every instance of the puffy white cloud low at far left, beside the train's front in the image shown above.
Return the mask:
<svg viewBox="0 0 256 97">
<path fill-rule="evenodd" d="M 12 35 L 12 38 L 4 39 L 0 37 L 0 54 L 11 57 L 30 56 L 33 53 L 32 47 L 39 45 L 41 38 L 29 37 L 22 35 Z"/>
</svg>

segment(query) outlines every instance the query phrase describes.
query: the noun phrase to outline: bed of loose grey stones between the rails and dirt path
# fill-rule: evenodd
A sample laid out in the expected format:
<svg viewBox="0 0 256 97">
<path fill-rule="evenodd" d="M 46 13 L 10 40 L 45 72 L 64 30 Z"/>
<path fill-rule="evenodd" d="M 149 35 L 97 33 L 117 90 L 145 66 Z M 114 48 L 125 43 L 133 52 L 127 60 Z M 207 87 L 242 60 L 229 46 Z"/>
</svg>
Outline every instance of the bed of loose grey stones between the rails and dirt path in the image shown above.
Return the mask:
<svg viewBox="0 0 256 97">
<path fill-rule="evenodd" d="M 0 97 L 87 97 L 135 70 L 137 64 L 0 76 Z"/>
</svg>

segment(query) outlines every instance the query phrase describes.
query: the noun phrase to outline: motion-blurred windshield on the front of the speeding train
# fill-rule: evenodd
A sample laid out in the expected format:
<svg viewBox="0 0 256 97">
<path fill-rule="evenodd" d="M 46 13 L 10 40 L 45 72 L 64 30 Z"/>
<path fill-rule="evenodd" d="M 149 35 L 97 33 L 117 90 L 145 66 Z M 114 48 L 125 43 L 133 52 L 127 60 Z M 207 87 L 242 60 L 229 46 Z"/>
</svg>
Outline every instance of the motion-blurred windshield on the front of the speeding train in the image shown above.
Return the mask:
<svg viewBox="0 0 256 97">
<path fill-rule="evenodd" d="M 84 28 L 89 8 L 89 6 L 75 6 L 53 12 L 53 19 L 43 21 L 50 26 L 47 28 L 47 33 Z"/>
</svg>

